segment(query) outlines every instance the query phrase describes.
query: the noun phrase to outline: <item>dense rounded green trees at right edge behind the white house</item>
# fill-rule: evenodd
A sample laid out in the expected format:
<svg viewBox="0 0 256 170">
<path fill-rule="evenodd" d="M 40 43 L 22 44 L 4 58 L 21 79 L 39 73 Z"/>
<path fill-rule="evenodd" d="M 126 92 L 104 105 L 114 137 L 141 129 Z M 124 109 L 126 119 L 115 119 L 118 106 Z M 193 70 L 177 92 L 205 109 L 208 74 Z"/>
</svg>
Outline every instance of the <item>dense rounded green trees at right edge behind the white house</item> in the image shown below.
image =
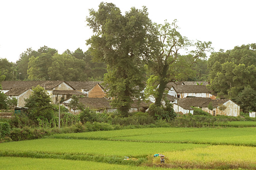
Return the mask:
<svg viewBox="0 0 256 170">
<path fill-rule="evenodd" d="M 256 44 L 212 53 L 208 60 L 210 88 L 218 97 L 236 100 L 249 85 L 256 90 Z"/>
</svg>

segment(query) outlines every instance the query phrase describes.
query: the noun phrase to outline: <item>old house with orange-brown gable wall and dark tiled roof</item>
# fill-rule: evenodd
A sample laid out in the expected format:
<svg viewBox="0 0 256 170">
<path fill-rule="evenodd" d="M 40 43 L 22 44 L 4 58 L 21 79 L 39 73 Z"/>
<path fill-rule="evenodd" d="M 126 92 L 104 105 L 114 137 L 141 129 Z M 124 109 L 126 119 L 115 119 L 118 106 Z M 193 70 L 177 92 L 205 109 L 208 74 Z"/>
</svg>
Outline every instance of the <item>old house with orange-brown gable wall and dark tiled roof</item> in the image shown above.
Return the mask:
<svg viewBox="0 0 256 170">
<path fill-rule="evenodd" d="M 67 82 L 75 90 L 80 91 L 89 98 L 102 98 L 106 96 L 101 82 Z"/>
</svg>

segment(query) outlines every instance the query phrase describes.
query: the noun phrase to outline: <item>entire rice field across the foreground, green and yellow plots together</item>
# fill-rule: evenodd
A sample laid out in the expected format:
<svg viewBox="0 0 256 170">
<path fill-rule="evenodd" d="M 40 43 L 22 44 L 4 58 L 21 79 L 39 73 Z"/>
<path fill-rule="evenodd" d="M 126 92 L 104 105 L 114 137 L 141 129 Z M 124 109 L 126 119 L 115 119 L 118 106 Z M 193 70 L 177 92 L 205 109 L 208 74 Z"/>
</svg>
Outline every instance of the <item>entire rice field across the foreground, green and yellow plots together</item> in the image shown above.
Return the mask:
<svg viewBox="0 0 256 170">
<path fill-rule="evenodd" d="M 6 162 L 0 169 L 255 170 L 255 146 L 254 127 L 147 128 L 60 134 L 47 139 L 0 143 L 0 164 Z M 165 155 L 165 164 L 160 164 L 159 157 L 153 157 L 155 153 Z"/>
</svg>

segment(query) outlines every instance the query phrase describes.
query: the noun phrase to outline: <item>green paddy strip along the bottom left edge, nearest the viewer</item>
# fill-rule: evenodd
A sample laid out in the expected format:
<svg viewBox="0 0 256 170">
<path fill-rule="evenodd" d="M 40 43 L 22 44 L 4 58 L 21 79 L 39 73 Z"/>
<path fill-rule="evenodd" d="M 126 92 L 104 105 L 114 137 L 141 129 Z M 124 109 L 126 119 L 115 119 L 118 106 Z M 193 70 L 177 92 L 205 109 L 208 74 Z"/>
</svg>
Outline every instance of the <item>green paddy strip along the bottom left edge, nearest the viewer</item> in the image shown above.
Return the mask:
<svg viewBox="0 0 256 170">
<path fill-rule="evenodd" d="M 36 159 L 28 157 L 0 157 L 0 165 L 1 170 L 168 170 L 91 161 Z"/>
</svg>

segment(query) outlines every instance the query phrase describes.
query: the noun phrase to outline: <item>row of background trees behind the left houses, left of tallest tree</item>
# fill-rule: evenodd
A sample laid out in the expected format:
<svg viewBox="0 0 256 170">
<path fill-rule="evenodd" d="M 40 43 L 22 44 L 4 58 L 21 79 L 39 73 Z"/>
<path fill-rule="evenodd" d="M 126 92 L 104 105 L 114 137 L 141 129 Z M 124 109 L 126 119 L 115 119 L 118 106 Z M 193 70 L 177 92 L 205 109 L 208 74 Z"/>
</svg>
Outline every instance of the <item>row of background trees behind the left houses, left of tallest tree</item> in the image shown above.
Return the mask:
<svg viewBox="0 0 256 170">
<path fill-rule="evenodd" d="M 47 46 L 38 50 L 28 48 L 16 63 L 0 59 L 0 71 L 5 81 L 63 80 L 98 81 L 107 72 L 105 63 L 94 63 L 88 51 L 80 48 L 74 52 L 58 50 Z"/>
</svg>

